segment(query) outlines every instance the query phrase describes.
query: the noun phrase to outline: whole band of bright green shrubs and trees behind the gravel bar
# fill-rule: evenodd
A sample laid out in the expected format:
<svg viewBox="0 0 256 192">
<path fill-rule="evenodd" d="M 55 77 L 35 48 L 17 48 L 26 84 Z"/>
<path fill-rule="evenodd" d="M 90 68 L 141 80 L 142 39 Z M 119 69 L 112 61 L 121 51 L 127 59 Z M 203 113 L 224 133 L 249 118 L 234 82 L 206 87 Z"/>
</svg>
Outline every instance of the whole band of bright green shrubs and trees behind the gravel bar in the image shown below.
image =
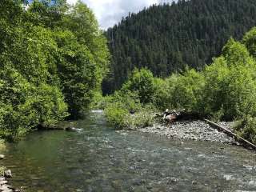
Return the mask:
<svg viewBox="0 0 256 192">
<path fill-rule="evenodd" d="M 106 117 L 118 129 L 153 126 L 154 112 L 183 110 L 214 122 L 236 121 L 234 131 L 256 144 L 256 27 L 223 46 L 222 54 L 201 71 L 156 78 L 150 70 L 135 69 L 102 103 Z M 131 115 L 132 114 L 132 115 Z"/>
</svg>

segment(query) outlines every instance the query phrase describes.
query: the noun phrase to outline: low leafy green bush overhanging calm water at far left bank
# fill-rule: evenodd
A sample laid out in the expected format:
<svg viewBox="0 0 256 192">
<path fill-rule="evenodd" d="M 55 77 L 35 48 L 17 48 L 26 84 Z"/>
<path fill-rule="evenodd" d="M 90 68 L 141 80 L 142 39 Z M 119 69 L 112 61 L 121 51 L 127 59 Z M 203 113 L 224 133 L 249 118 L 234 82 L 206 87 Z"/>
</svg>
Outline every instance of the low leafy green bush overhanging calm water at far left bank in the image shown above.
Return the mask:
<svg viewBox="0 0 256 192">
<path fill-rule="evenodd" d="M 0 130 L 15 140 L 35 126 L 53 126 L 65 118 L 67 106 L 54 86 L 34 86 L 10 67 L 0 70 Z"/>
</svg>

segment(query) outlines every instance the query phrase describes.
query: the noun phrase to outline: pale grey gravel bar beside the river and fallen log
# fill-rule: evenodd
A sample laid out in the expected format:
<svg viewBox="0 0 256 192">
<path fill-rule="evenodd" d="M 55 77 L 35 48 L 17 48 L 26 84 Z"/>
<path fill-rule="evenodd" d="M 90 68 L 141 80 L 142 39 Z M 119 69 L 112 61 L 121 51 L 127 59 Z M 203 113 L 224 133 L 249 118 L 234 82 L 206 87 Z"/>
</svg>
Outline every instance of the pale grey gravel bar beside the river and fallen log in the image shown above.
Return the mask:
<svg viewBox="0 0 256 192">
<path fill-rule="evenodd" d="M 234 122 L 221 122 L 220 124 L 228 130 L 232 130 L 230 127 L 234 125 Z M 147 126 L 139 129 L 139 131 L 148 134 L 159 134 L 166 138 L 192 139 L 239 145 L 234 138 L 231 138 L 222 131 L 214 129 L 214 127 L 201 120 L 174 122 L 169 125 L 154 123 L 154 126 Z"/>
</svg>

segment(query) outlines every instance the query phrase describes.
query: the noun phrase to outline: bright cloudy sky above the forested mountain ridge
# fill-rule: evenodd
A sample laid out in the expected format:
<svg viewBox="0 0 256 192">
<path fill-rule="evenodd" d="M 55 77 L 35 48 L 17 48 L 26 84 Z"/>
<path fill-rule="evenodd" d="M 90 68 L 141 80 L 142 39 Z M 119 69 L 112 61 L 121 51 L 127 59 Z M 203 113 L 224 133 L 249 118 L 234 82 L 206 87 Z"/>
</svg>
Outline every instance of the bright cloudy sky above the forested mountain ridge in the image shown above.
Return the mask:
<svg viewBox="0 0 256 192">
<path fill-rule="evenodd" d="M 69 3 L 75 3 L 77 0 L 67 0 Z M 129 12 L 137 13 L 144 7 L 160 3 L 172 2 L 173 0 L 82 0 L 96 15 L 99 25 L 106 30 L 121 21 Z"/>
</svg>

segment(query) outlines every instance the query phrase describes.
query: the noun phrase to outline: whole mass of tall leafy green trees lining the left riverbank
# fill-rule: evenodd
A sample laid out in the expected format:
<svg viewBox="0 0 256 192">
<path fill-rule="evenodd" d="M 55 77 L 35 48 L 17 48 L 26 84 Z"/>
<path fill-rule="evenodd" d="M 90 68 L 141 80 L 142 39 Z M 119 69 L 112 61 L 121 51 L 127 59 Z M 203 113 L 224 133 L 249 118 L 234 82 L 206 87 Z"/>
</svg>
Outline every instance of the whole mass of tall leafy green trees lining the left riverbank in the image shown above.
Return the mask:
<svg viewBox="0 0 256 192">
<path fill-rule="evenodd" d="M 78 118 L 106 74 L 106 38 L 81 1 L 0 2 L 0 136 Z"/>
</svg>

